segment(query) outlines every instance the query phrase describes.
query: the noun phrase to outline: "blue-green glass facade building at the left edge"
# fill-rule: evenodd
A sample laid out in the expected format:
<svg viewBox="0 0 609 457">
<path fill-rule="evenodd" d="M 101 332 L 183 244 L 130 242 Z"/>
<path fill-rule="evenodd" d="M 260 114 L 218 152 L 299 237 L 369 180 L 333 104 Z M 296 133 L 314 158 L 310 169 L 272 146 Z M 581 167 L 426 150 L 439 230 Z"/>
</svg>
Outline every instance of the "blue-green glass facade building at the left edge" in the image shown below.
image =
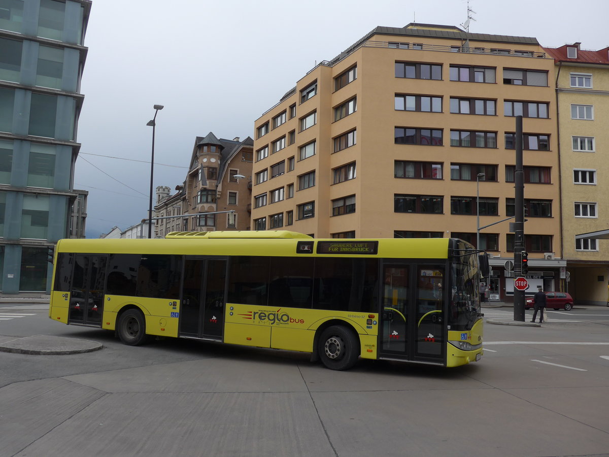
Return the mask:
<svg viewBox="0 0 609 457">
<path fill-rule="evenodd" d="M 0 0 L 0 290 L 48 292 L 70 236 L 90 0 Z"/>
</svg>

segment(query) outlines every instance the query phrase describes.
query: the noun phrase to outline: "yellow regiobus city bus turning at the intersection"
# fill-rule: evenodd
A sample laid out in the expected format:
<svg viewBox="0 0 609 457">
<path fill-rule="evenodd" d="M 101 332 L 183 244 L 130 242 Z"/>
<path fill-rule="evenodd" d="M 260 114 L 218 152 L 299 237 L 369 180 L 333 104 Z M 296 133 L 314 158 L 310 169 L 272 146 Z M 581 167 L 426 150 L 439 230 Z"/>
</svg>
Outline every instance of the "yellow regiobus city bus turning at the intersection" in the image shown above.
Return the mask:
<svg viewBox="0 0 609 457">
<path fill-rule="evenodd" d="M 335 370 L 359 358 L 454 367 L 482 356 L 480 252 L 286 230 L 62 239 L 49 317 L 128 345 L 171 336 L 308 352 Z"/>
</svg>

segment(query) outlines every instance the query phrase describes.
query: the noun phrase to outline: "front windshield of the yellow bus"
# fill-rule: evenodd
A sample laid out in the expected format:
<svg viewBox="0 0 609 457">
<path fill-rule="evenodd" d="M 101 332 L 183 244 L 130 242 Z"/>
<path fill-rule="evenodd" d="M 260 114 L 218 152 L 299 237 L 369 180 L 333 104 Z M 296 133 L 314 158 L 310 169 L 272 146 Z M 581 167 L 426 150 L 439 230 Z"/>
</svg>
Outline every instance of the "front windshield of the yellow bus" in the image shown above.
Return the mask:
<svg viewBox="0 0 609 457">
<path fill-rule="evenodd" d="M 452 291 L 449 330 L 471 330 L 481 317 L 480 311 L 480 274 L 477 255 L 463 255 L 454 258 L 451 264 Z"/>
</svg>

